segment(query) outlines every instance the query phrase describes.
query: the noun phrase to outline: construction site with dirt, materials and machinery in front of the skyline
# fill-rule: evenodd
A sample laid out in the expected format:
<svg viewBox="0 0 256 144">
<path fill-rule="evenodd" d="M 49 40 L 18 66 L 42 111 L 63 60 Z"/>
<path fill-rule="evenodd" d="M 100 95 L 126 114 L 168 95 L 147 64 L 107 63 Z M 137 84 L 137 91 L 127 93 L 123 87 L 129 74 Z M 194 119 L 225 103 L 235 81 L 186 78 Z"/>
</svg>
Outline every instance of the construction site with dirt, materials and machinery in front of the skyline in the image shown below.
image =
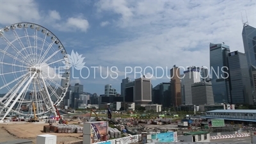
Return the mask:
<svg viewBox="0 0 256 144">
<path fill-rule="evenodd" d="M 99 117 L 93 109 L 84 115 L 65 115 L 51 119 L 39 119 L 36 116 L 27 122 L 5 122 L 1 127 L 1 140 L 31 140 L 36 143 L 36 136 L 40 134 L 53 134 L 58 137 L 58 144 L 70 144 L 83 141 L 84 122 L 97 122 L 106 120 L 106 117 Z M 218 132 L 235 134 L 241 131 L 239 125 L 225 125 L 207 129 L 206 122 L 200 118 L 184 118 L 175 120 L 173 118 L 111 118 L 108 120 L 108 140 L 132 136 L 136 134 L 156 134 L 161 132 L 177 132 L 178 136 L 184 136 L 188 132 L 205 131 L 211 134 Z M 214 135 L 212 135 L 214 136 Z M 107 140 L 102 137 L 102 140 Z"/>
</svg>

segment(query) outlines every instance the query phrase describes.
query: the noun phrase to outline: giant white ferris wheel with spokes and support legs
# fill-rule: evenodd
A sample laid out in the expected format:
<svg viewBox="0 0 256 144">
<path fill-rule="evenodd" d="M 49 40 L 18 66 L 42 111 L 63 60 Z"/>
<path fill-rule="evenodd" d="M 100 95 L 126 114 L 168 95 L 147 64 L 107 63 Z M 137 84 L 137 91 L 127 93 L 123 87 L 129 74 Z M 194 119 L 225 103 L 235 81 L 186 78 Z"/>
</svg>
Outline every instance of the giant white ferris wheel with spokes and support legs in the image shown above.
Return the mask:
<svg viewBox="0 0 256 144">
<path fill-rule="evenodd" d="M 0 122 L 13 113 L 56 115 L 54 105 L 69 85 L 68 64 L 60 40 L 43 26 L 20 22 L 0 29 Z"/>
</svg>

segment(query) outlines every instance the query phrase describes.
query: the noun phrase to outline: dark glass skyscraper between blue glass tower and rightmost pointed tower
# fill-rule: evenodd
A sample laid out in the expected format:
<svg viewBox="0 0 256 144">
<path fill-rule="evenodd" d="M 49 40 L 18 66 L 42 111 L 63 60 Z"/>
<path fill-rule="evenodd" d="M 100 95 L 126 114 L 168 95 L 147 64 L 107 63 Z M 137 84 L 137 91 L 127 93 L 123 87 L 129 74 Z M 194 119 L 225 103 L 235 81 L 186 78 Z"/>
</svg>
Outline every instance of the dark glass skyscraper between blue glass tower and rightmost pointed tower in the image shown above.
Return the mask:
<svg viewBox="0 0 256 144">
<path fill-rule="evenodd" d="M 246 55 L 234 51 L 228 54 L 232 104 L 253 104 L 253 93 Z"/>
</svg>

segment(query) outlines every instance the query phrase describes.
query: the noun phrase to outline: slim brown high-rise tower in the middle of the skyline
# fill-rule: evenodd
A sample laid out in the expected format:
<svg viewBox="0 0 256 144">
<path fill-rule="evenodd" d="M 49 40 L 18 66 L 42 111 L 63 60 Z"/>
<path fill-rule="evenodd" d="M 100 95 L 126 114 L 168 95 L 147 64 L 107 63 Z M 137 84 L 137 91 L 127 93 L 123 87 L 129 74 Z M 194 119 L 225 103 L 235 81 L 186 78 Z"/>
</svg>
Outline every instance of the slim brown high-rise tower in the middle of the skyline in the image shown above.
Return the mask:
<svg viewBox="0 0 256 144">
<path fill-rule="evenodd" d="M 173 106 L 180 106 L 182 104 L 181 100 L 181 83 L 180 83 L 180 68 L 173 65 L 170 70 L 171 74 L 171 97 Z"/>
</svg>

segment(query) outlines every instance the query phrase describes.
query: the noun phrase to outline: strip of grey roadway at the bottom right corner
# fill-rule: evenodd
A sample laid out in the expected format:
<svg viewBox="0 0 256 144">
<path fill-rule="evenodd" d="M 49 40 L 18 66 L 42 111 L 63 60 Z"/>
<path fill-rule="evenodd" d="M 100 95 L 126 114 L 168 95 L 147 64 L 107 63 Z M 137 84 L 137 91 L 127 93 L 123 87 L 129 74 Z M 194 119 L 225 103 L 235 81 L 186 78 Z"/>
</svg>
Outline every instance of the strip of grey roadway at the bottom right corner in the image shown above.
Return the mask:
<svg viewBox="0 0 256 144">
<path fill-rule="evenodd" d="M 251 137 L 245 137 L 245 138 L 227 138 L 227 139 L 221 139 L 221 140 L 211 140 L 211 142 L 214 143 L 251 143 Z"/>
</svg>

